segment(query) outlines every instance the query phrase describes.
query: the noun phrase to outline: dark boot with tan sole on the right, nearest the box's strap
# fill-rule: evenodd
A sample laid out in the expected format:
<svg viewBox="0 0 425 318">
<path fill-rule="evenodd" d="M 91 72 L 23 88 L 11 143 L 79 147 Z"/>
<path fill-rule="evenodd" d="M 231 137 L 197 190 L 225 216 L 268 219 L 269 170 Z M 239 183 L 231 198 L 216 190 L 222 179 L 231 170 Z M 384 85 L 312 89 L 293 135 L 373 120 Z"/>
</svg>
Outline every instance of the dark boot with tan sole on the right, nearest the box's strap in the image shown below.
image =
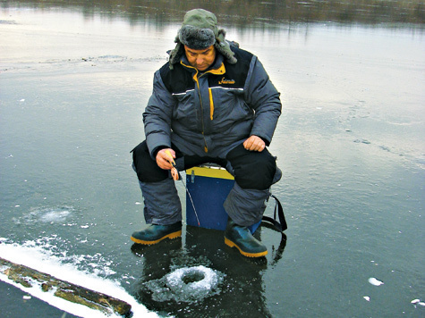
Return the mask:
<svg viewBox="0 0 425 318">
<path fill-rule="evenodd" d="M 261 257 L 268 254 L 268 249 L 254 238 L 246 226 L 239 226 L 229 218 L 225 228 L 225 245 L 236 247 L 242 255 Z"/>
</svg>

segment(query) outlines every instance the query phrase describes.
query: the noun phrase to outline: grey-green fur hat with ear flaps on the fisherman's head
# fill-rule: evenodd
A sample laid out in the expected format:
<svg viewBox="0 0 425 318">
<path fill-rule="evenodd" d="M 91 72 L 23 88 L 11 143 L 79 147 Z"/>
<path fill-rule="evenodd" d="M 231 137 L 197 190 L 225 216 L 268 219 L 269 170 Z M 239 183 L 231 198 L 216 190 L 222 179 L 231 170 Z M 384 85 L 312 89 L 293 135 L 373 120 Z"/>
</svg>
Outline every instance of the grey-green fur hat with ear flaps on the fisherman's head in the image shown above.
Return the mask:
<svg viewBox="0 0 425 318">
<path fill-rule="evenodd" d="M 177 43 L 170 52 L 170 69 L 180 62 L 184 54 L 184 46 L 194 50 L 201 50 L 214 45 L 217 52 L 223 54 L 228 63 L 237 62 L 230 44 L 225 40 L 225 30 L 217 29 L 217 17 L 203 9 L 193 9 L 184 15 L 182 28 L 174 39 Z"/>
</svg>

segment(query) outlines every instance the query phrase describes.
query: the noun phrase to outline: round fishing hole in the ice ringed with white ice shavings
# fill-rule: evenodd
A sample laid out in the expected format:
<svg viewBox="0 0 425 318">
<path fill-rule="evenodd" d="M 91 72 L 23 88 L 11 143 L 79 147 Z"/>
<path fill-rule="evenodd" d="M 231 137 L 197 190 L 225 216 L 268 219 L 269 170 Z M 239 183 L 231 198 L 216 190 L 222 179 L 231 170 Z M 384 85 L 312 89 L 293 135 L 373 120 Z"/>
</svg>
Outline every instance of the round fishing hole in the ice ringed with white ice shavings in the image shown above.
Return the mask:
<svg viewBox="0 0 425 318">
<path fill-rule="evenodd" d="M 192 303 L 220 293 L 218 285 L 225 274 L 203 265 L 178 268 L 158 280 L 149 280 L 144 286 L 158 302 L 174 300 Z"/>
</svg>

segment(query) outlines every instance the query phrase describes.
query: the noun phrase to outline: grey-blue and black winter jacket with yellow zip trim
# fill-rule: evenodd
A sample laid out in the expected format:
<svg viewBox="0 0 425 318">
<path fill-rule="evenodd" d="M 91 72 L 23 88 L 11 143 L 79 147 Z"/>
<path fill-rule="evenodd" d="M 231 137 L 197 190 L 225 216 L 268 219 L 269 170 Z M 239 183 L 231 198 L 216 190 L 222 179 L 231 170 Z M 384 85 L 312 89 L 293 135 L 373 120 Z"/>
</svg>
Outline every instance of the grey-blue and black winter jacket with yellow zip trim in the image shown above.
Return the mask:
<svg viewBox="0 0 425 318">
<path fill-rule="evenodd" d="M 237 63 L 217 53 L 204 72 L 185 55 L 156 71 L 143 113 L 149 153 L 174 144 L 185 155 L 225 158 L 251 135 L 271 142 L 281 113 L 279 93 L 258 58 L 232 47 Z"/>
</svg>

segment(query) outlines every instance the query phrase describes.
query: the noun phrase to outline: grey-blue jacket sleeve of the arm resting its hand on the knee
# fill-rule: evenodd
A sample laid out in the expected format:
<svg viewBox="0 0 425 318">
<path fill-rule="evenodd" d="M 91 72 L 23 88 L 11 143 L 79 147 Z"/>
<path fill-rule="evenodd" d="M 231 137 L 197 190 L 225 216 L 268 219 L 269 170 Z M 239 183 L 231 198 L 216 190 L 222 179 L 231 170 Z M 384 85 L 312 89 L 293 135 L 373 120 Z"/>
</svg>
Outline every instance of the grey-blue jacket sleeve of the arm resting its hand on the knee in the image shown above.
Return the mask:
<svg viewBox="0 0 425 318">
<path fill-rule="evenodd" d="M 268 73 L 254 55 L 245 83 L 245 100 L 255 112 L 251 135 L 270 144 L 282 111 L 280 93 L 268 78 Z"/>
</svg>

